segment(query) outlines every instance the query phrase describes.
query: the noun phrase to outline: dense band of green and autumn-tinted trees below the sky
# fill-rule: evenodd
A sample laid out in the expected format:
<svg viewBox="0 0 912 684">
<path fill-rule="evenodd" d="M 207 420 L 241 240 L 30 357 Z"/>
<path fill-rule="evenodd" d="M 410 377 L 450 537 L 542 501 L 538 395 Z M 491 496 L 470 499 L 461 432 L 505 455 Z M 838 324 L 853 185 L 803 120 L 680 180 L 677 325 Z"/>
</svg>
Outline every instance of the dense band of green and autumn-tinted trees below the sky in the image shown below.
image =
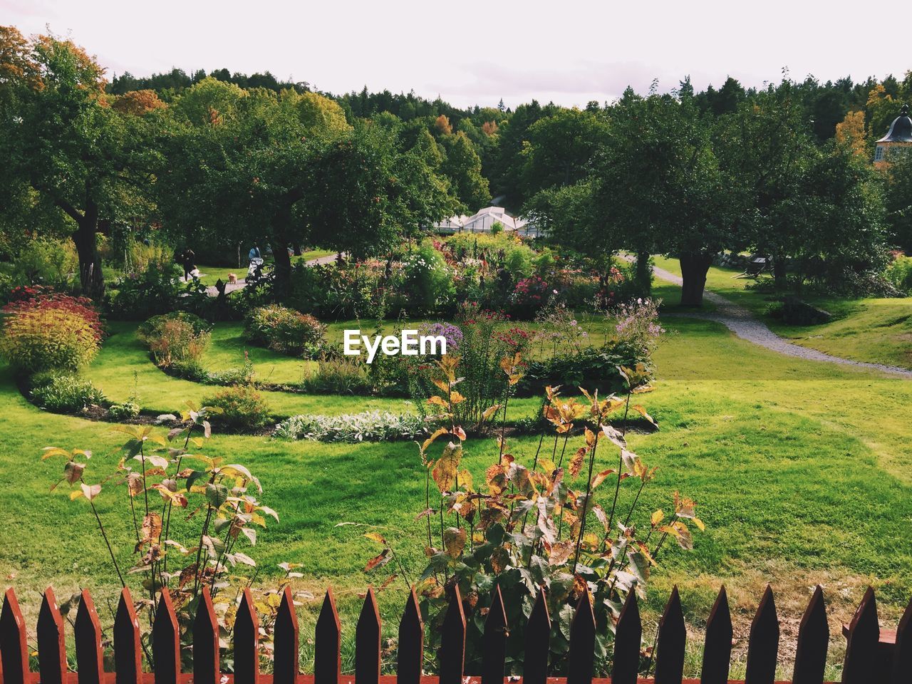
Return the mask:
<svg viewBox="0 0 912 684">
<path fill-rule="evenodd" d="M 770 255 L 801 285 L 864 280 L 912 242 L 912 162 L 870 164 L 912 76 L 459 109 L 268 72 L 107 82 L 71 41 L 5 27 L 0 43 L 3 249 L 71 235 L 88 293 L 104 286 L 96 236 L 117 226 L 271 245 L 281 291 L 289 244 L 384 254 L 492 195 L 604 268 L 627 250 L 646 279 L 648 254 L 679 257 L 691 304 L 720 250 Z"/>
</svg>

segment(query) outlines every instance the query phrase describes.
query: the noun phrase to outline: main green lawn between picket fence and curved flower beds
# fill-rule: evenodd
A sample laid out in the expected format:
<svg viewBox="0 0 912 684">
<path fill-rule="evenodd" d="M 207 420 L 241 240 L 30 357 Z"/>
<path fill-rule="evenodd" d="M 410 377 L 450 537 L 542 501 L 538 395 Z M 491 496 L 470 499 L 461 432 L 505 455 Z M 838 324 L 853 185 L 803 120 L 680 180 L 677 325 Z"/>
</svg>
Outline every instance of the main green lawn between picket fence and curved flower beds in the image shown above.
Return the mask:
<svg viewBox="0 0 912 684">
<path fill-rule="evenodd" d="M 885 620 L 897 617 L 912 592 L 912 383 L 782 357 L 711 322 L 668 318 L 664 323 L 669 333 L 656 358 L 657 390 L 642 398 L 662 430 L 631 437 L 644 460 L 659 466 L 643 510 L 667 509 L 672 492 L 679 490 L 698 501 L 708 528 L 697 535 L 693 553 L 670 550 L 654 571 L 647 632 L 673 583 L 681 587 L 689 624 L 699 635 L 722 582 L 730 590 L 741 634 L 767 581 L 777 592 L 780 614 L 790 618 L 800 617 L 810 587 L 819 582 L 832 610 L 831 659 L 836 662 L 842 644 L 837 623 L 850 617 L 866 584 L 877 587 Z M 227 331 L 224 339 L 232 339 Z M 254 358 L 258 364 L 274 361 Z M 172 410 L 184 397 L 211 391 L 152 366 L 124 324 L 116 327 L 88 374 L 119 399 L 130 393 L 133 371 L 144 406 Z M 392 399 L 301 395 L 270 394 L 270 400 L 276 406 L 284 402 L 288 412 L 401 405 Z M 84 501 L 48 492 L 60 464 L 40 461 L 39 453 L 49 444 L 91 449 L 90 469 L 107 472 L 123 436 L 107 424 L 35 409 L 7 373 L 0 375 L 0 406 L 0 486 L 8 492 L 0 573 L 15 575 L 10 581 L 15 580 L 33 617 L 36 590 L 50 582 L 64 596 L 77 586 L 111 591 L 109 563 L 94 519 Z M 529 461 L 536 443 L 531 437 L 513 440 L 513 454 Z M 476 480 L 496 458 L 495 450 L 492 440 L 468 443 L 466 463 Z M 331 582 L 350 646 L 356 593 L 384 576 L 362 573 L 376 553 L 361 536 L 363 528 L 338 523 L 381 526 L 410 574 L 420 572 L 422 543 L 415 515 L 424 507 L 424 480 L 414 444 L 287 443 L 216 434 L 205 452 L 242 462 L 262 479 L 263 501 L 278 511 L 281 522 L 270 524 L 251 553 L 262 565 L 264 584 L 275 581 L 278 563 L 304 564 L 298 586 L 316 596 L 303 608 L 304 629 L 311 628 L 323 587 Z M 613 458 L 608 451 L 603 457 L 606 461 L 598 465 L 608 467 Z M 624 489 L 622 496 L 631 492 Z M 103 492 L 98 505 L 117 554 L 126 562 L 132 529 L 122 492 Z M 404 589 L 397 582 L 381 594 L 390 636 Z M 795 620 L 783 622 L 782 632 L 783 640 L 793 640 Z M 742 658 L 741 647 L 736 650 Z"/>
</svg>

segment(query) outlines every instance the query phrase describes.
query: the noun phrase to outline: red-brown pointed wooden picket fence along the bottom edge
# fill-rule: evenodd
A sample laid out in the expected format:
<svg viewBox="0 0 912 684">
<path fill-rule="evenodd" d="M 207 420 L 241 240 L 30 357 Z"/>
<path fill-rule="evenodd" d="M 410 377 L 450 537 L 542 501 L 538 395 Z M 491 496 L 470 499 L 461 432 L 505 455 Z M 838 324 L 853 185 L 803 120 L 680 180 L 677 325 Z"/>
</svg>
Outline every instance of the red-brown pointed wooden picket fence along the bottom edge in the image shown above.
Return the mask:
<svg viewBox="0 0 912 684">
<path fill-rule="evenodd" d="M 896 632 L 881 633 L 874 591 L 868 589 L 845 627 L 848 639 L 843 666 L 845 684 L 912 683 L 912 602 L 899 621 Z M 482 638 L 482 671 L 479 677 L 464 677 L 466 621 L 458 588 L 441 627 L 440 676 L 422 675 L 424 625 L 418 597 L 409 594 L 399 622 L 397 674 L 381 675 L 380 615 L 372 589 L 361 609 L 355 635 L 354 675 L 342 673 L 341 625 L 332 589 L 327 590 L 316 621 L 314 674 L 298 671 L 298 627 L 292 594 L 282 597 L 274 626 L 275 661 L 273 674 L 261 674 L 257 655 L 259 623 L 250 590 L 244 591 L 233 627 L 233 675 L 223 675 L 219 666 L 219 627 L 208 588 L 202 592 L 200 609 L 194 618 L 192 674 L 181 673 L 181 644 L 177 617 L 167 590 L 162 592 L 152 624 L 151 651 L 154 673 L 142 671 L 140 624 L 130 591 L 123 589 L 114 619 L 114 669 L 104 670 L 102 630 L 88 590 L 81 594 L 73 622 L 78 672 L 67 671 L 64 620 L 57 600 L 48 588 L 37 619 L 38 672 L 29 671 L 26 623 L 8 589 L 0 613 L 0 684 L 503 684 L 503 663 L 509 626 L 500 589 L 492 597 Z M 617 621 L 611 679 L 594 679 L 596 619 L 588 593 L 576 606 L 570 630 L 566 676 L 549 678 L 548 644 L 551 620 L 544 589 L 536 597 L 525 630 L 523 684 L 655 684 L 696 683 L 682 679 L 687 631 L 677 587 L 658 622 L 656 658 L 648 663 L 652 679 L 638 679 L 646 663 L 642 658 L 642 624 L 637 597 L 631 592 Z M 767 587 L 751 622 L 746 663 L 746 684 L 772 684 L 779 650 L 779 618 L 772 589 Z M 712 606 L 706 624 L 706 638 L 699 681 L 702 684 L 731 682 L 731 612 L 725 587 Z M 829 644 L 824 593 L 814 591 L 798 633 L 793 684 L 821 684 L 824 681 Z M 472 673 L 477 674 L 477 673 Z M 514 681 L 518 678 L 511 678 Z"/>
</svg>

